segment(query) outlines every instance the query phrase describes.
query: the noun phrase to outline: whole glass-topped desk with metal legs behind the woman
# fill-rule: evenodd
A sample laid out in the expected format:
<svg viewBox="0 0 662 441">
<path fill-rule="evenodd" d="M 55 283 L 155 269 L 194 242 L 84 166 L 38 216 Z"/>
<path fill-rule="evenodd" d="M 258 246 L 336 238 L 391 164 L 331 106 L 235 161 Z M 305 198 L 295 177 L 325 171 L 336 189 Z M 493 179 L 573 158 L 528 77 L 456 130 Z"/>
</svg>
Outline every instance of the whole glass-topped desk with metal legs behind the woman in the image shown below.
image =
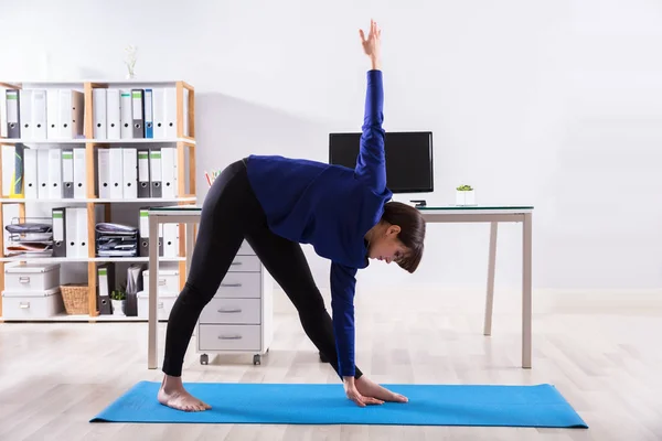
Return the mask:
<svg viewBox="0 0 662 441">
<path fill-rule="evenodd" d="M 193 224 L 200 222 L 200 206 L 180 205 L 156 207 L 149 209 L 149 269 L 159 271 L 158 232 L 159 224 L 186 224 L 186 273 L 193 254 Z M 531 368 L 532 346 L 532 206 L 438 206 L 421 207 L 420 213 L 427 223 L 490 223 L 490 257 L 488 266 L 488 284 L 485 298 L 485 316 L 483 334 L 492 333 L 492 304 L 494 299 L 494 266 L 496 262 L 496 227 L 500 222 L 522 223 L 522 367 Z M 148 313 L 148 368 L 157 368 L 157 281 L 149 278 L 149 313 Z"/>
</svg>

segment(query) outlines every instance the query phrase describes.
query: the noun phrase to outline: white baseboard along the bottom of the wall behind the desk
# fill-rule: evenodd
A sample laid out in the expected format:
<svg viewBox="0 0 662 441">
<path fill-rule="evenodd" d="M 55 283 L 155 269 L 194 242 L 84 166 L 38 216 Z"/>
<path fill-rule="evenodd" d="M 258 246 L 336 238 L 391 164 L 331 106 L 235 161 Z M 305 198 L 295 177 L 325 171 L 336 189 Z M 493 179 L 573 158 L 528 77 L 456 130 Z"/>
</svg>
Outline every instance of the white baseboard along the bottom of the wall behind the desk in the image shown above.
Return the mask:
<svg viewBox="0 0 662 441">
<path fill-rule="evenodd" d="M 327 309 L 331 312 L 329 290 L 321 290 Z M 296 313 L 291 302 L 280 289 L 274 301 L 276 313 Z M 356 312 L 385 312 L 394 310 L 456 311 L 478 313 L 484 311 L 485 291 L 477 289 L 370 289 L 357 291 Z M 519 314 L 522 293 L 515 290 L 495 290 L 494 314 Z M 534 313 L 661 313 L 662 290 L 553 290 L 533 291 Z"/>
</svg>

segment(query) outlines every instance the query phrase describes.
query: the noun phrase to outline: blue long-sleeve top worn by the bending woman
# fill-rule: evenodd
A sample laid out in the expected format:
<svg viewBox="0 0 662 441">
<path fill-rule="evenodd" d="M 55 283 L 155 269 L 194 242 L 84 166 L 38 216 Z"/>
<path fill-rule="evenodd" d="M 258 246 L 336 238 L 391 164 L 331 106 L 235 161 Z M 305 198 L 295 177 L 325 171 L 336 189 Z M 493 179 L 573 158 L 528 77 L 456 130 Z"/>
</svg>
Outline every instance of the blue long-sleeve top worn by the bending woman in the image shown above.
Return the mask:
<svg viewBox="0 0 662 441">
<path fill-rule="evenodd" d="M 248 158 L 248 179 L 269 228 L 289 240 L 312 245 L 319 256 L 331 260 L 331 309 L 341 376 L 355 375 L 355 276 L 367 267 L 364 237 L 393 196 L 386 187 L 383 105 L 382 72 L 369 71 L 354 169 L 279 155 Z"/>
</svg>

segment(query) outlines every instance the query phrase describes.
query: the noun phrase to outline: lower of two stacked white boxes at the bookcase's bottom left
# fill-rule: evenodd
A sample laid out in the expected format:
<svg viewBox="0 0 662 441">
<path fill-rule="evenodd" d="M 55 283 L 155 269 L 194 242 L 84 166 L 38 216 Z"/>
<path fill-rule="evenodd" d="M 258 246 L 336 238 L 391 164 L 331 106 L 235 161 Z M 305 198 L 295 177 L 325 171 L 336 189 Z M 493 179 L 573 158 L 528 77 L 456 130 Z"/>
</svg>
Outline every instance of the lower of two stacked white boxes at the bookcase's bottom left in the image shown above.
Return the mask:
<svg viewBox="0 0 662 441">
<path fill-rule="evenodd" d="M 2 291 L 2 318 L 45 319 L 64 311 L 60 287 L 43 291 Z"/>
</svg>

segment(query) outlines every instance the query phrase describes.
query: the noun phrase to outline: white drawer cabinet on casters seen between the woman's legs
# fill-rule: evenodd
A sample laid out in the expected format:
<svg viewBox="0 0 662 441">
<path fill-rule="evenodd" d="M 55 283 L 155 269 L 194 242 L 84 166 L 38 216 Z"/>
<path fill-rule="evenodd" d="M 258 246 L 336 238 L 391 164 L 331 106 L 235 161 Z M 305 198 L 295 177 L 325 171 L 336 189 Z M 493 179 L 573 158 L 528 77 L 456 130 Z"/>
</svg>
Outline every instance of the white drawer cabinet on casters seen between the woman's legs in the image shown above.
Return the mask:
<svg viewBox="0 0 662 441">
<path fill-rule="evenodd" d="M 253 354 L 259 365 L 274 338 L 274 281 L 244 241 L 196 325 L 200 363 L 210 354 Z"/>
</svg>

